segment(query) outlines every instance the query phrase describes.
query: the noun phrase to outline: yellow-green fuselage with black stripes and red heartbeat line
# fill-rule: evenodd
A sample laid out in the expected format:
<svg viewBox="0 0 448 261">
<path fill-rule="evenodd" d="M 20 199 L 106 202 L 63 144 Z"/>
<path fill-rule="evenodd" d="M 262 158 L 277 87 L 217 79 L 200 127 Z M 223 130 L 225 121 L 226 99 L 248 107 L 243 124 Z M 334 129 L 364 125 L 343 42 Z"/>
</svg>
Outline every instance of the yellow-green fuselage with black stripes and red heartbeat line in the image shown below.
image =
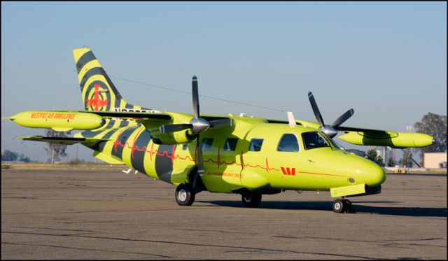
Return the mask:
<svg viewBox="0 0 448 261">
<path fill-rule="evenodd" d="M 175 119 L 191 115 L 170 113 Z M 200 139 L 209 140 L 202 147 L 205 173 L 202 183 L 209 192 L 231 193 L 241 188 L 252 191 L 330 190 L 342 186 L 365 184 L 377 186 L 386 180 L 384 170 L 363 157 L 336 148 L 306 149 L 302 133 L 316 129 L 283 123 L 269 123 L 262 118 L 225 115 L 235 120 L 232 128 L 209 129 Z M 113 121 L 97 131 L 80 132 L 75 136 L 88 136 L 102 141 L 91 148 L 94 155 L 110 162 L 123 162 L 148 176 L 179 185 L 188 183 L 189 174 L 196 162 L 196 141 L 183 144 L 158 145 L 151 139 L 157 136 L 162 122 L 137 124 L 108 129 Z M 123 125 L 123 122 L 122 122 Z M 119 126 L 118 122 L 114 126 Z M 297 137 L 298 151 L 278 151 L 283 134 Z M 178 134 L 184 135 L 184 132 Z M 233 150 L 225 149 L 227 139 L 237 139 Z M 262 139 L 259 151 L 251 151 L 252 139 Z"/>
</svg>

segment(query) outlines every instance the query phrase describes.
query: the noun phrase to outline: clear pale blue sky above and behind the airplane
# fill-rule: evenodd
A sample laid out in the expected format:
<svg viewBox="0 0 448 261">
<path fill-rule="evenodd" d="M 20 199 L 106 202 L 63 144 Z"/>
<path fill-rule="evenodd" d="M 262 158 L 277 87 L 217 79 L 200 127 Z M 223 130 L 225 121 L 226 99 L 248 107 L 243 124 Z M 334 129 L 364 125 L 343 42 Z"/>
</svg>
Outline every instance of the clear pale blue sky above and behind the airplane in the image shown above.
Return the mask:
<svg viewBox="0 0 448 261">
<path fill-rule="evenodd" d="M 109 76 L 190 92 L 195 74 L 200 94 L 302 120 L 315 120 L 308 91 L 327 123 L 353 108 L 346 126 L 405 132 L 428 112 L 447 114 L 444 1 L 2 1 L 1 116 L 82 109 L 71 50 L 83 46 Z M 188 94 L 112 80 L 132 104 L 192 111 Z M 286 119 L 205 97 L 201 111 Z M 1 151 L 45 160 L 44 143 L 13 139 L 42 134 L 1 120 Z"/>
</svg>

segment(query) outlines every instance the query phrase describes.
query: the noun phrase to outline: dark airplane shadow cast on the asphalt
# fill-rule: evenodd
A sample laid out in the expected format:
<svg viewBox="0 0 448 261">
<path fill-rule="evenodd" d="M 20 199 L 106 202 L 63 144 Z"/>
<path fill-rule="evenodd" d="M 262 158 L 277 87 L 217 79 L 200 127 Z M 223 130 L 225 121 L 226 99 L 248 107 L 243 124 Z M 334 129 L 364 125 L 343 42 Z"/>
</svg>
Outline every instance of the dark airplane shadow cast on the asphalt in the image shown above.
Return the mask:
<svg viewBox="0 0 448 261">
<path fill-rule="evenodd" d="M 231 206 L 243 208 L 243 204 L 238 201 L 209 201 L 218 206 Z M 360 203 L 360 202 L 359 202 Z M 376 203 L 376 202 L 364 202 Z M 377 202 L 396 203 L 396 202 Z M 332 202 L 261 202 L 259 209 L 297 209 L 297 210 L 318 210 L 332 211 Z M 447 208 L 431 207 L 408 207 L 408 206 L 366 206 L 353 202 L 353 209 L 356 213 L 372 213 L 392 216 L 413 216 L 413 217 L 447 217 Z"/>
</svg>

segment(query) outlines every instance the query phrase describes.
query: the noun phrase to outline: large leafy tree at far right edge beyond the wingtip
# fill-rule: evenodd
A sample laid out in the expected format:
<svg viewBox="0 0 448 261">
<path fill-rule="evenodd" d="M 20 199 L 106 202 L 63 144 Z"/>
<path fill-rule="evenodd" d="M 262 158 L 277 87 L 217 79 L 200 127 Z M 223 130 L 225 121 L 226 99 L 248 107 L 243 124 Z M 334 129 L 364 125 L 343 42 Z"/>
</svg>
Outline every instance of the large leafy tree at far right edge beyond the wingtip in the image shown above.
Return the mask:
<svg viewBox="0 0 448 261">
<path fill-rule="evenodd" d="M 415 122 L 416 132 L 421 132 L 433 136 L 435 142 L 432 146 L 417 148 L 420 151 L 421 162 L 423 163 L 424 153 L 442 153 L 447 151 L 447 115 L 428 113 L 421 118 L 420 122 Z"/>
</svg>

